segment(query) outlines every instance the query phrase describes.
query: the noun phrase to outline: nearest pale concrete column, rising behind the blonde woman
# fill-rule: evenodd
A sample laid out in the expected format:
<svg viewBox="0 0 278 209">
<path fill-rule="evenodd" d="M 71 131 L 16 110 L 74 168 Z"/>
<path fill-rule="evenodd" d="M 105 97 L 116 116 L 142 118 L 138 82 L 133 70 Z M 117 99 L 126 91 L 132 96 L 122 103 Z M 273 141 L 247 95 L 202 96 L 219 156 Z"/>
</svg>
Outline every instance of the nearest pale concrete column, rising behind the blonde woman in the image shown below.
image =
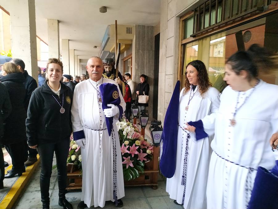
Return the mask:
<svg viewBox="0 0 278 209">
<path fill-rule="evenodd" d="M 10 1 L 11 49 L 38 82 L 35 0 Z M 20 12 L 19 12 L 20 11 Z"/>
</svg>

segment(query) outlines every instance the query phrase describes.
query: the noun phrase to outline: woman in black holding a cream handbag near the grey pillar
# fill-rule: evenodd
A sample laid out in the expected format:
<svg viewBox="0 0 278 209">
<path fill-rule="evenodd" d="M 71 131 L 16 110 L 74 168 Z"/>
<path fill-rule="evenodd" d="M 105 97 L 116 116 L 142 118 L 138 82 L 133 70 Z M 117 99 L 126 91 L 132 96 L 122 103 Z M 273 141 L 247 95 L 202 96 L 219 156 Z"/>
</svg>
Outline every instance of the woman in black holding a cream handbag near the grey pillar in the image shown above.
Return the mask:
<svg viewBox="0 0 278 209">
<path fill-rule="evenodd" d="M 150 85 L 146 82 L 146 75 L 140 76 L 140 81 L 136 88 L 137 102 L 139 111 L 145 110 L 148 107 Z"/>
</svg>

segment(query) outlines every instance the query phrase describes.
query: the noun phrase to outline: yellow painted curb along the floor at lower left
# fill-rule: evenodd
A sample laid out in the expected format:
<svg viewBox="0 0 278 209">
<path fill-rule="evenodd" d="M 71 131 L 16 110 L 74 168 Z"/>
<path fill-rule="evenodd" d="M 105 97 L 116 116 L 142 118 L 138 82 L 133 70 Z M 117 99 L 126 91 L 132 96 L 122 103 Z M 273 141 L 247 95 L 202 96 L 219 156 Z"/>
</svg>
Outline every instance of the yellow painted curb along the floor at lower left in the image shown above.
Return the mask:
<svg viewBox="0 0 278 209">
<path fill-rule="evenodd" d="M 28 184 L 29 179 L 35 172 L 36 168 L 39 166 L 40 156 L 37 155 L 37 158 L 38 161 L 33 165 L 28 166 L 26 168 L 26 172 L 24 172 L 22 176 L 17 179 L 15 184 L 12 185 L 10 191 L 8 192 L 8 194 L 6 194 L 5 198 L 0 203 L 0 208 L 10 209 L 13 207 L 23 188 Z M 9 165 L 8 168 L 6 168 L 5 170 L 5 174 L 7 173 L 7 170 L 10 170 L 11 168 L 12 165 Z"/>
</svg>

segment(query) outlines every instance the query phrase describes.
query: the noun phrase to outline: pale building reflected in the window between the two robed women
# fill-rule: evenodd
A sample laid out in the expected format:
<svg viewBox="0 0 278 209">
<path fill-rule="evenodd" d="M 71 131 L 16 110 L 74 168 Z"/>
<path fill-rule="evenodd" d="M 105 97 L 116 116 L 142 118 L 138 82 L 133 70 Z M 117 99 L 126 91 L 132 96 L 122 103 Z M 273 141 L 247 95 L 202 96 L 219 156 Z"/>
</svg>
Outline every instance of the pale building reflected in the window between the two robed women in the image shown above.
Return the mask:
<svg viewBox="0 0 278 209">
<path fill-rule="evenodd" d="M 220 92 L 226 87 L 226 83 L 223 81 L 225 71 L 225 41 L 225 36 L 211 40 L 209 49 L 209 81 Z"/>
</svg>

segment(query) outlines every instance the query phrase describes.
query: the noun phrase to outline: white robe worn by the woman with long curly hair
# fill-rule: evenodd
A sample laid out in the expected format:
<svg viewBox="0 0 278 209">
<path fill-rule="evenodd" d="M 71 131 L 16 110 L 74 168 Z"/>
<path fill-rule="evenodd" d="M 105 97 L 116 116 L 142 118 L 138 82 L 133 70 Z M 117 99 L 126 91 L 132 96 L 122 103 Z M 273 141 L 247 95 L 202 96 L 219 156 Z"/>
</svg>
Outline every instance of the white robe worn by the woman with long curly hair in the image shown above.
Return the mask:
<svg viewBox="0 0 278 209">
<path fill-rule="evenodd" d="M 218 110 L 220 93 L 217 89 L 210 87 L 204 98 L 200 96 L 199 92 L 196 93 L 189 103 L 188 111 L 185 111 L 185 107 L 188 104 L 190 91 L 183 95 L 183 90 L 184 88 L 179 96 L 179 125 L 181 127 L 185 127 L 185 124 L 189 121 L 200 120 Z M 166 191 L 170 194 L 170 198 L 177 200 L 179 204 L 182 204 L 184 192 L 184 185 L 181 185 L 181 182 L 186 139 L 187 133 L 179 127 L 175 174 L 172 178 L 167 178 L 166 182 Z M 211 149 L 208 137 L 196 141 L 195 134 L 191 134 L 188 141 L 184 208 L 206 207 L 205 191 L 210 155 Z"/>
</svg>

